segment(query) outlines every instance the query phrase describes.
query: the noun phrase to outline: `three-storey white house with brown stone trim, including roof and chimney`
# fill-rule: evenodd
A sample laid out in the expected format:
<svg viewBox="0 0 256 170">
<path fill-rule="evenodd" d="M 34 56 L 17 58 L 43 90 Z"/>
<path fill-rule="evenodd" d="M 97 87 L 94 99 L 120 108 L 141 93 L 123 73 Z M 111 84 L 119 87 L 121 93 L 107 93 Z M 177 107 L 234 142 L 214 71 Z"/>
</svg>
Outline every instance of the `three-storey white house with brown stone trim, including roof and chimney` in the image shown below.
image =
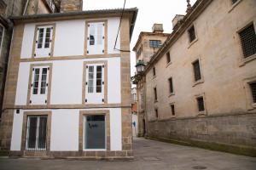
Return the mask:
<svg viewBox="0 0 256 170">
<path fill-rule="evenodd" d="M 132 158 L 137 8 L 82 11 L 75 2 L 60 14 L 11 18 L 1 126 L 10 156 Z"/>
</svg>

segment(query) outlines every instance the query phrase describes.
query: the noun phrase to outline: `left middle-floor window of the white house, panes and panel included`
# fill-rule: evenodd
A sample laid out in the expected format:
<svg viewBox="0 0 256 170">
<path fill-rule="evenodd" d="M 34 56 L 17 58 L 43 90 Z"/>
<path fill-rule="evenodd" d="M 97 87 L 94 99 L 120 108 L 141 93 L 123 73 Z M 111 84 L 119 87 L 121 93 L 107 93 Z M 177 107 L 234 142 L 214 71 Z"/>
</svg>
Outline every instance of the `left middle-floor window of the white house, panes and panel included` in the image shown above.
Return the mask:
<svg viewBox="0 0 256 170">
<path fill-rule="evenodd" d="M 49 85 L 49 66 L 34 66 L 32 68 L 32 83 L 30 104 L 47 104 Z"/>
</svg>

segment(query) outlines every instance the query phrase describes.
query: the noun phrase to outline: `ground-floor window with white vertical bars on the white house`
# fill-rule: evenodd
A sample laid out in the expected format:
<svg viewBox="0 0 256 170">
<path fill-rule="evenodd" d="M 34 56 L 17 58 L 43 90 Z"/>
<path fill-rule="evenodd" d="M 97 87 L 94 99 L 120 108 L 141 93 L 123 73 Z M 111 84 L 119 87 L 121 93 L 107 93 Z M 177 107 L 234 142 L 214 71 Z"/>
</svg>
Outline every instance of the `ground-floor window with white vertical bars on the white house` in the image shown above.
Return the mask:
<svg viewBox="0 0 256 170">
<path fill-rule="evenodd" d="M 27 116 L 26 150 L 46 150 L 47 116 Z"/>
</svg>

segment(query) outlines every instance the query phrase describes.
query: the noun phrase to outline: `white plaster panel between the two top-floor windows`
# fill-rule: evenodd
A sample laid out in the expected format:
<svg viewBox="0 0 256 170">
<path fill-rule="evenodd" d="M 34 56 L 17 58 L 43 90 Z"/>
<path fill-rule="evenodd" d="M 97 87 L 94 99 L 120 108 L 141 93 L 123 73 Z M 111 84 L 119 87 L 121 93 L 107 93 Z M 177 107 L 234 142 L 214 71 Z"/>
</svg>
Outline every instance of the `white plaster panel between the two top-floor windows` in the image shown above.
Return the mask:
<svg viewBox="0 0 256 170">
<path fill-rule="evenodd" d="M 84 54 L 84 20 L 56 22 L 54 56 Z"/>
</svg>

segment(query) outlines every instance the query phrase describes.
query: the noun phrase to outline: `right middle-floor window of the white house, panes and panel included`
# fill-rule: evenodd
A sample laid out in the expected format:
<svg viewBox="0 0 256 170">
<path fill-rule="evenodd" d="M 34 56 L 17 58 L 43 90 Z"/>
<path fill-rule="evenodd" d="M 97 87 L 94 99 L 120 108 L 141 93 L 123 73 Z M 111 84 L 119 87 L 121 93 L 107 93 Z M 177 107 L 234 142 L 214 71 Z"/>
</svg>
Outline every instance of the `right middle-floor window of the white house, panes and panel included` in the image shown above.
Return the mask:
<svg viewBox="0 0 256 170">
<path fill-rule="evenodd" d="M 103 63 L 85 65 L 85 103 L 104 102 L 104 67 Z"/>
</svg>

